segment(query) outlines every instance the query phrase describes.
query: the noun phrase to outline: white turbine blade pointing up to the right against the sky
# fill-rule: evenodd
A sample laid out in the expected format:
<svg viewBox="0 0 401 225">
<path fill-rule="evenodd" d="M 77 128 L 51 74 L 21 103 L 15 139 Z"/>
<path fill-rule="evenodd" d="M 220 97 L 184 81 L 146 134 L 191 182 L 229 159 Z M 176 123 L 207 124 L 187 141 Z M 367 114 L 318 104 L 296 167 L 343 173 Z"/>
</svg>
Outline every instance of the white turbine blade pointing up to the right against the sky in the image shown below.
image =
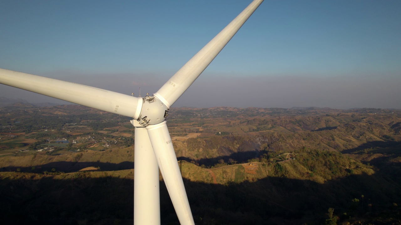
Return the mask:
<svg viewBox="0 0 401 225">
<path fill-rule="evenodd" d="M 198 78 L 212 60 L 219 54 L 235 33 L 247 21 L 249 16 L 263 0 L 254 0 L 231 23 L 229 23 L 205 47 L 196 53 L 170 80 L 168 80 L 155 94 L 157 98 L 170 108 L 172 104 Z"/>
</svg>

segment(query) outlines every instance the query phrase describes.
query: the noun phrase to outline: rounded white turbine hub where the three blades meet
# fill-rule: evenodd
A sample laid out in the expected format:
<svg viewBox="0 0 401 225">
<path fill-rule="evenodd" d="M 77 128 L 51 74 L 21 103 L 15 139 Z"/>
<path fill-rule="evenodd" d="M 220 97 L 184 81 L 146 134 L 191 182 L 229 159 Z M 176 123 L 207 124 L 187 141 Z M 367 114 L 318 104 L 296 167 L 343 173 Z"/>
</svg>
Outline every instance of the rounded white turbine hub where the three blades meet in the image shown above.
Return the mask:
<svg viewBox="0 0 401 225">
<path fill-rule="evenodd" d="M 166 120 L 168 108 L 154 95 L 146 95 L 142 105 L 141 115 L 138 118 L 140 125 L 146 127 L 148 125 L 156 125 Z"/>
</svg>

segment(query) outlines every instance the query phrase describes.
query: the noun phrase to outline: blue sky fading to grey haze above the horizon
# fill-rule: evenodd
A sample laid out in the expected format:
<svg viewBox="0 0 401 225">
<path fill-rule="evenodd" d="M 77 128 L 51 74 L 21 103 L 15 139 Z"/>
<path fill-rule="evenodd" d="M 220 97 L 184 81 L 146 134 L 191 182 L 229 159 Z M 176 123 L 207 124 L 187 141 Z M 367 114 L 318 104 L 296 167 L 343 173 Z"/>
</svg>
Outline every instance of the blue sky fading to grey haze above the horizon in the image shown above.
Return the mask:
<svg viewBox="0 0 401 225">
<path fill-rule="evenodd" d="M 0 68 L 153 93 L 250 2 L 2 0 Z M 398 0 L 265 0 L 174 106 L 401 108 L 400 21 Z"/>
</svg>

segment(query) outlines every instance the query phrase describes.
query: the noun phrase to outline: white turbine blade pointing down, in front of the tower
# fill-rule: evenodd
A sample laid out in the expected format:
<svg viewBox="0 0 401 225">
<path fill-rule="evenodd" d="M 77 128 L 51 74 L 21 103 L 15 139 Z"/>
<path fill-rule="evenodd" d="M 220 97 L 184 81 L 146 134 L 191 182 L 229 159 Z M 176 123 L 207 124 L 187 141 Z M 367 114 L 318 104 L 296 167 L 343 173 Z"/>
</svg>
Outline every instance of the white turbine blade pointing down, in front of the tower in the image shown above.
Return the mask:
<svg viewBox="0 0 401 225">
<path fill-rule="evenodd" d="M 146 127 L 168 194 L 181 225 L 194 225 L 166 121 Z"/>
</svg>

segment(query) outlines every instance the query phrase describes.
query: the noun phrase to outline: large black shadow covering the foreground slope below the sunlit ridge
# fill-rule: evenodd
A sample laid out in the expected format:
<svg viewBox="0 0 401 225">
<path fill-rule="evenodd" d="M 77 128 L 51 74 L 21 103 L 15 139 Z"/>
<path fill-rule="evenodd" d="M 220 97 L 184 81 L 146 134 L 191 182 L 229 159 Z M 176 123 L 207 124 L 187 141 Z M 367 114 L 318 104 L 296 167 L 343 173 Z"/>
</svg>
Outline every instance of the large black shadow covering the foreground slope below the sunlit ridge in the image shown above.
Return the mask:
<svg viewBox="0 0 401 225">
<path fill-rule="evenodd" d="M 93 178 L 85 172 L 74 179 L 23 179 L 24 174 L 0 180 L 4 224 L 132 224 L 132 179 Z M 393 203 L 401 201 L 400 184 L 383 174 L 350 175 L 324 184 L 284 177 L 225 185 L 184 183 L 198 225 L 323 224 L 330 207 L 341 218 L 367 213 L 399 218 Z M 165 185 L 160 188 L 162 224 L 179 224 Z"/>
</svg>

